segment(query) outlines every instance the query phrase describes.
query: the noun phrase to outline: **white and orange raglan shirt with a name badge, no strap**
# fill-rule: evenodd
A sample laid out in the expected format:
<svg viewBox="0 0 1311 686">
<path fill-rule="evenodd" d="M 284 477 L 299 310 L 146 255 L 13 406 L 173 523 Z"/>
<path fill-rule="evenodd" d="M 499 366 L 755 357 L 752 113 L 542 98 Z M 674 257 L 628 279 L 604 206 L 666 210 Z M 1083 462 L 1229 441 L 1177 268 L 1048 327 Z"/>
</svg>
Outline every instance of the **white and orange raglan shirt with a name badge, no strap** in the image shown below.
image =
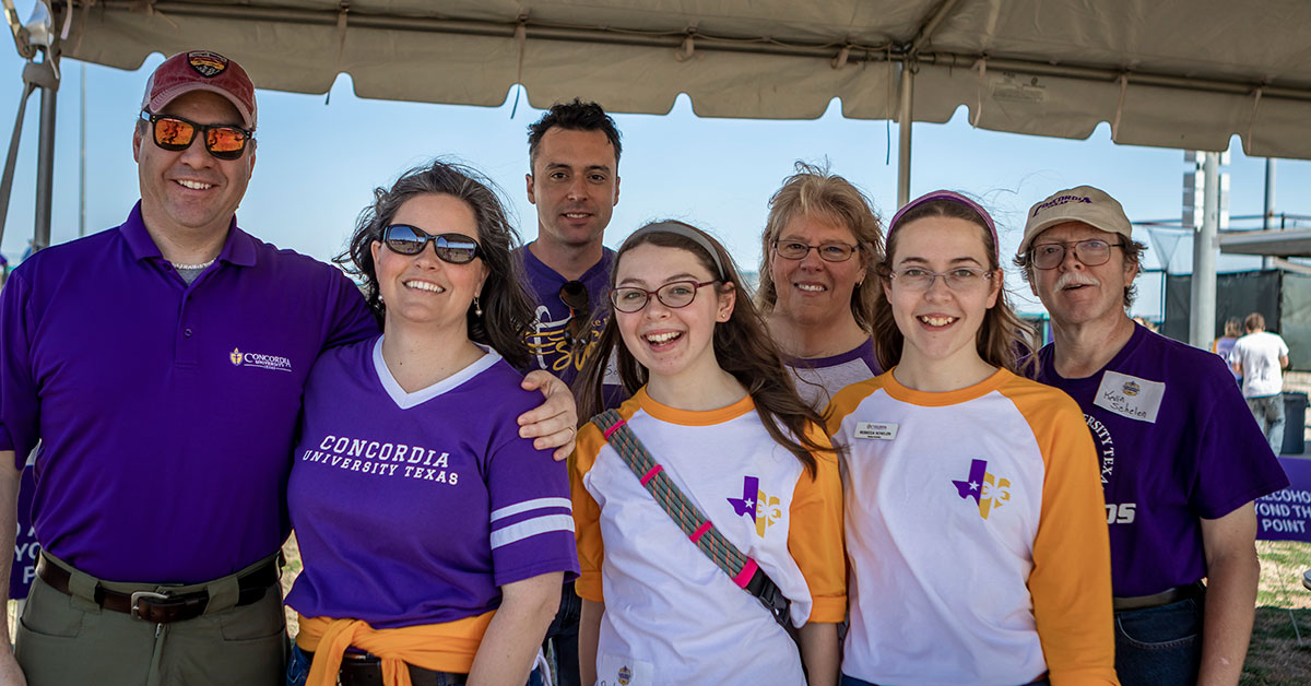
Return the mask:
<svg viewBox="0 0 1311 686">
<path fill-rule="evenodd" d="M 939 393 L 886 373 L 829 411 L 850 450 L 844 674 L 1117 683 L 1106 513 L 1074 400 L 1006 370 Z"/>
</svg>

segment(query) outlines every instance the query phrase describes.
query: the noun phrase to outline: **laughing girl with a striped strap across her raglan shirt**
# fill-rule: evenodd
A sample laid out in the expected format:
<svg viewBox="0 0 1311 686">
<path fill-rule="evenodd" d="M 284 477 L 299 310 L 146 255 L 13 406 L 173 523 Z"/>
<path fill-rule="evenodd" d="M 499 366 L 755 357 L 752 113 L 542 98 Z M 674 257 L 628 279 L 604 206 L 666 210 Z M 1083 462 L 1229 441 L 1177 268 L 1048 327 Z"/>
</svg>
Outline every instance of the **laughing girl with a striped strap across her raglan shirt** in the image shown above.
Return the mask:
<svg viewBox="0 0 1311 686">
<path fill-rule="evenodd" d="M 836 685 L 842 485 L 821 417 L 707 233 L 679 222 L 640 228 L 611 282 L 614 313 L 579 375 L 579 416 L 602 409 L 614 357 L 632 396 L 621 424 L 705 521 L 688 535 L 597 424 L 583 425 L 570 466 L 583 682 Z M 796 641 L 754 586 L 694 543 L 711 526 L 781 592 Z"/>
</svg>

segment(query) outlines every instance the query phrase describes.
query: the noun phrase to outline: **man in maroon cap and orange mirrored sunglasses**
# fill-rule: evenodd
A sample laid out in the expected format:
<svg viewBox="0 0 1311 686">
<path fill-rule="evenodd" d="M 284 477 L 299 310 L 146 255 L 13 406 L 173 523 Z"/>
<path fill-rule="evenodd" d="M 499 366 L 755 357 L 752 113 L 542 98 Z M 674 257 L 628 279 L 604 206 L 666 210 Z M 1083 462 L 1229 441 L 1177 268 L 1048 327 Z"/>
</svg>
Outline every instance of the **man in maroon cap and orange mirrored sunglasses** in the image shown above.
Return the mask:
<svg viewBox="0 0 1311 686">
<path fill-rule="evenodd" d="M 237 227 L 254 127 L 236 62 L 168 58 L 132 134 L 126 222 L 38 252 L 0 291 L 0 550 L 30 454 L 42 544 L 0 686 L 283 681 L 304 382 L 378 325 L 340 270 Z M 572 447 L 569 390 L 538 374 L 524 386 L 548 400 L 520 433 Z"/>
</svg>

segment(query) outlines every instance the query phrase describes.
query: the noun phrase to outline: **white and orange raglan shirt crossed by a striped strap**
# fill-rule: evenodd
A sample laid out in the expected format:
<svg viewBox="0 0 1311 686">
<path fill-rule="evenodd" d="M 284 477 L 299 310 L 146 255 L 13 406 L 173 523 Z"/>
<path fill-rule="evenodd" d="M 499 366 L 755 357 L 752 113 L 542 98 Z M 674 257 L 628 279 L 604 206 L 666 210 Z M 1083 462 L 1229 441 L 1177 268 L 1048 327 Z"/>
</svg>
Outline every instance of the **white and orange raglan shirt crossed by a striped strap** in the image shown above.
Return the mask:
<svg viewBox="0 0 1311 686">
<path fill-rule="evenodd" d="M 840 622 L 846 595 L 836 458 L 812 477 L 770 437 L 750 396 L 688 412 L 640 390 L 619 408 L 665 474 L 792 601 L 792 623 Z M 817 438 L 827 443 L 822 430 Z M 587 424 L 570 485 L 582 576 L 606 603 L 599 683 L 805 683 L 797 647 L 716 567 Z"/>
</svg>

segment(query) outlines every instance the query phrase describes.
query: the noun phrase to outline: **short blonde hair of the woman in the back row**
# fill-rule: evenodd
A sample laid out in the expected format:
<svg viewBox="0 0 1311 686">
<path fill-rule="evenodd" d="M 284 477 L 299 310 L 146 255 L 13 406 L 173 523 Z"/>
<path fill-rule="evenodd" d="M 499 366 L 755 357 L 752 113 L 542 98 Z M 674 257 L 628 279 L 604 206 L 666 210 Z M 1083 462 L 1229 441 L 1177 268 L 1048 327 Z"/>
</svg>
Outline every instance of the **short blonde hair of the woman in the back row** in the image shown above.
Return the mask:
<svg viewBox="0 0 1311 686">
<path fill-rule="evenodd" d="M 770 198 L 770 218 L 760 236 L 759 286 L 755 304 L 768 313 L 779 302 L 779 293 L 770 274 L 770 256 L 773 241 L 788 223 L 801 216 L 822 218 L 851 231 L 856 239 L 856 258 L 865 265 L 867 274 L 884 254 L 884 227 L 874 214 L 869 197 L 851 181 L 830 173 L 827 165 L 815 167 L 802 161 L 796 173 L 783 180 L 783 186 Z M 878 279 L 865 278 L 851 291 L 851 315 L 864 331 L 871 331 L 874 310 L 878 307 Z"/>
</svg>

